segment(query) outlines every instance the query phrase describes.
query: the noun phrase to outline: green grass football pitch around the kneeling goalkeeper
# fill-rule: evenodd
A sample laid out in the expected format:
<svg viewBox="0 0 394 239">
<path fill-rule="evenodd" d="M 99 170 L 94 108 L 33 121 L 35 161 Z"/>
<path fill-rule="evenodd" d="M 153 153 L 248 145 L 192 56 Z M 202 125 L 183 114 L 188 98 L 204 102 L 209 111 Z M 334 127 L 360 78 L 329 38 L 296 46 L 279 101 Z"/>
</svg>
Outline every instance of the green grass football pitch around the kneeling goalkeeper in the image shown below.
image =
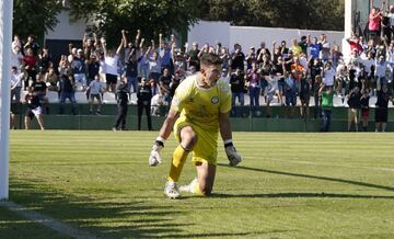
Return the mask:
<svg viewBox="0 0 394 239">
<path fill-rule="evenodd" d="M 150 168 L 155 136 L 12 132 L 10 200 L 106 238 L 394 237 L 394 134 L 234 133 L 241 167 L 227 167 L 219 144 L 215 195 L 176 201 L 163 195 L 176 143 Z M 181 184 L 194 177 L 188 161 Z M 56 237 L 39 226 L 14 234 L 25 220 L 5 213 L 1 238 Z"/>
</svg>

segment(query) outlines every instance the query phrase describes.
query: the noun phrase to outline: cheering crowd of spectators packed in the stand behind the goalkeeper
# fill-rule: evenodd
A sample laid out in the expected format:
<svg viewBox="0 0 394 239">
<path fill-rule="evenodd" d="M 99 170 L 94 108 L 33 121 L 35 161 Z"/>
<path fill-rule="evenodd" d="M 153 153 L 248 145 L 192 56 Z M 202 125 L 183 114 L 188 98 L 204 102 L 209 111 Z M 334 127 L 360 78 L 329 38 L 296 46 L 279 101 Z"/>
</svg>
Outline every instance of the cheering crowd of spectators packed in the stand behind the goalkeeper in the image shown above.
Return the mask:
<svg viewBox="0 0 394 239">
<path fill-rule="evenodd" d="M 197 43 L 192 47 L 187 43 L 178 46 L 174 35 L 164 39 L 162 34 L 157 46 L 153 39 L 147 43 L 140 31 L 134 41 L 128 39 L 127 31 L 121 31 L 118 47 L 107 49 L 105 37 L 86 34 L 82 48 L 70 44 L 57 67 L 50 49 L 40 47 L 34 36 L 26 42 L 15 36 L 11 59 L 12 99 L 20 101 L 21 90 L 37 92 L 44 112 L 49 113 L 46 92 L 54 91 L 58 93 L 61 114 L 66 100 L 74 104 L 74 92 L 81 91 L 89 99 L 91 113 L 101 114 L 103 93 L 116 95 L 116 86 L 126 80 L 130 94 L 137 95 L 140 82 L 150 87 L 151 114 L 160 115 L 160 105 L 170 104 L 179 82 L 199 70 L 201 55 L 215 53 L 223 60 L 222 73 L 231 84 L 233 106 L 248 104 L 254 111 L 266 105 L 267 116 L 270 116 L 269 106 L 276 103 L 288 106 L 291 117 L 299 104 L 301 117 L 323 117 L 326 122 L 322 130 L 326 130 L 333 99 L 324 98 L 336 95 L 349 106 L 349 130 L 352 123 L 358 129 L 361 110 L 366 129 L 370 96 L 378 99 L 376 122 L 384 124 L 387 121 L 394 77 L 394 7 L 384 13 L 373 8 L 369 27 L 368 39 L 355 34 L 347 39 L 350 56 L 344 56 L 339 45 L 332 43 L 325 34 L 294 37 L 290 44 L 281 41 L 267 46 L 262 42 L 258 47 L 248 49 L 243 49 L 240 44 L 228 48 L 220 43 L 207 43 L 201 48 Z M 248 102 L 245 102 L 245 95 L 248 95 Z M 310 115 L 310 102 L 314 106 L 313 115 Z M 380 126 L 384 130 L 384 125 Z"/>
</svg>

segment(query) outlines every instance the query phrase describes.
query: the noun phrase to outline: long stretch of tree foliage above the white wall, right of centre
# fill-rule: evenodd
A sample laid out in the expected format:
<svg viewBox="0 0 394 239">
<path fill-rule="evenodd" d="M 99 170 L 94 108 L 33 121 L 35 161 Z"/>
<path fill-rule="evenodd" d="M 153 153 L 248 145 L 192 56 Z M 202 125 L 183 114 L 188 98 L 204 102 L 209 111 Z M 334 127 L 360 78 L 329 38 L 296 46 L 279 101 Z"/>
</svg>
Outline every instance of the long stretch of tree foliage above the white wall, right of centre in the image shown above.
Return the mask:
<svg viewBox="0 0 394 239">
<path fill-rule="evenodd" d="M 205 20 L 234 25 L 344 30 L 345 0 L 209 0 Z"/>
</svg>

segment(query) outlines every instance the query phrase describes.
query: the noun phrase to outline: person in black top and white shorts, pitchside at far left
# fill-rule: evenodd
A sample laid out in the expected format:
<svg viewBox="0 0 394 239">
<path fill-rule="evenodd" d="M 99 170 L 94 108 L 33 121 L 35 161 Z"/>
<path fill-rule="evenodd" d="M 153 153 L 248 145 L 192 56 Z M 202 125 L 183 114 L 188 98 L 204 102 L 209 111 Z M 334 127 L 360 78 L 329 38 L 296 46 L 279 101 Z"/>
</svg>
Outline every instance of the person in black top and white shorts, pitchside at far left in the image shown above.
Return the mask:
<svg viewBox="0 0 394 239">
<path fill-rule="evenodd" d="M 33 117 L 36 117 L 39 128 L 44 130 L 44 120 L 42 116 L 42 105 L 38 96 L 33 92 L 33 88 L 28 88 L 28 92 L 25 96 L 27 103 L 27 111 L 25 114 L 25 129 L 30 128 Z"/>
</svg>

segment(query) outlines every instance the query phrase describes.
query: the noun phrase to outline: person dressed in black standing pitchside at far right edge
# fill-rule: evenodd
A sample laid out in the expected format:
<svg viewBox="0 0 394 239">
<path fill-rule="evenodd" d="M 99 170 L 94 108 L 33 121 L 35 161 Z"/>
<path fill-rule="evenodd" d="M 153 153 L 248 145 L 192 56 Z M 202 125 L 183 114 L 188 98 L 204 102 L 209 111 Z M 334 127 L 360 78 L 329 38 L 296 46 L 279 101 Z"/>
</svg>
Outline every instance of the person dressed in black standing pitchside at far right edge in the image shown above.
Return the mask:
<svg viewBox="0 0 394 239">
<path fill-rule="evenodd" d="M 382 130 L 385 132 L 385 126 L 387 124 L 387 113 L 389 113 L 389 101 L 393 100 L 391 93 L 387 91 L 387 87 L 382 87 L 380 82 L 378 83 L 376 92 L 378 101 L 375 107 L 375 132 Z"/>
</svg>

